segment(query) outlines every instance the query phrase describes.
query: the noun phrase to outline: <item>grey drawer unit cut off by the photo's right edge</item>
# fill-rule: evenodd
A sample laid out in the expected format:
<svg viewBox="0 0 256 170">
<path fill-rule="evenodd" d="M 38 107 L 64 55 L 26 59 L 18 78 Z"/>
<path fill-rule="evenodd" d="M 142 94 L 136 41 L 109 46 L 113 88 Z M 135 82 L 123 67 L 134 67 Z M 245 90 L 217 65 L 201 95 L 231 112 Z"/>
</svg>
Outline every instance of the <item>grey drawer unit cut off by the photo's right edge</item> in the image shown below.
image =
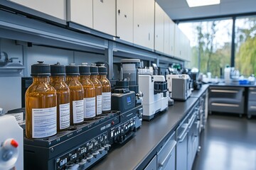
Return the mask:
<svg viewBox="0 0 256 170">
<path fill-rule="evenodd" d="M 247 96 L 247 117 L 251 118 L 256 115 L 256 87 L 249 87 Z"/>
</svg>

